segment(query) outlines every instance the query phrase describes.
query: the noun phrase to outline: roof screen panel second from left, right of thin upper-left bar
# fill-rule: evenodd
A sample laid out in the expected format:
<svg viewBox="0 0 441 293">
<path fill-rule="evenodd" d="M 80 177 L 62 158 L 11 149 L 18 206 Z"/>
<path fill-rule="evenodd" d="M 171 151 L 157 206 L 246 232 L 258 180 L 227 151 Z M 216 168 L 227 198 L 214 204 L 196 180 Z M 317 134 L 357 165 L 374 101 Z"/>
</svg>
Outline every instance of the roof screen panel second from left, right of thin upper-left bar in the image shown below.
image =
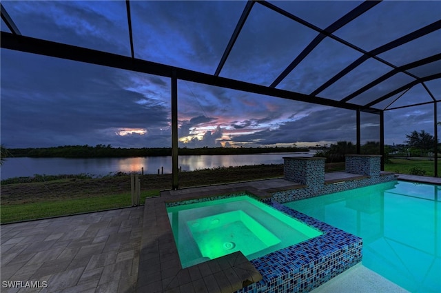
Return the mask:
<svg viewBox="0 0 441 293">
<path fill-rule="evenodd" d="M 135 57 L 212 74 L 243 1 L 131 1 Z"/>
</svg>

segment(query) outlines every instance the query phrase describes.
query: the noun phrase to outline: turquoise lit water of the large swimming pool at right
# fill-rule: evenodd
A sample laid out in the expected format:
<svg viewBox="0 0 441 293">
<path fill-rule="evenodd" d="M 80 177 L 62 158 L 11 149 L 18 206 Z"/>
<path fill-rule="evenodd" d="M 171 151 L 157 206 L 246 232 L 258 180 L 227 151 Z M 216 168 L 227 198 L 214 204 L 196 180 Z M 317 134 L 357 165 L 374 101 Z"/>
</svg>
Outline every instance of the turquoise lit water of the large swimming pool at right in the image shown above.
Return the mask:
<svg viewBox="0 0 441 293">
<path fill-rule="evenodd" d="M 441 186 L 398 181 L 285 203 L 363 239 L 362 263 L 410 292 L 441 292 Z"/>
</svg>

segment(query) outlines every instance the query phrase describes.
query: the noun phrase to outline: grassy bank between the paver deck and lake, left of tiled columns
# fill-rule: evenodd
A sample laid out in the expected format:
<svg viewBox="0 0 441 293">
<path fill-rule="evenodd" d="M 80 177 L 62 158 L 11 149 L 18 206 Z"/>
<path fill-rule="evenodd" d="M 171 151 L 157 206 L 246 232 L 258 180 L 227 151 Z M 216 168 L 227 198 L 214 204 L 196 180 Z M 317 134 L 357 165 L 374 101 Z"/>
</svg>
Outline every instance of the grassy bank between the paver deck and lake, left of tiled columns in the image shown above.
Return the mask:
<svg viewBox="0 0 441 293">
<path fill-rule="evenodd" d="M 215 168 L 179 174 L 180 187 L 211 185 L 283 176 L 283 165 Z M 147 174 L 141 179 L 141 204 L 147 196 L 170 189 L 172 174 Z M 130 175 L 91 179 L 79 176 L 37 176 L 2 181 L 0 222 L 11 223 L 50 216 L 124 208 L 132 204 Z"/>
</svg>

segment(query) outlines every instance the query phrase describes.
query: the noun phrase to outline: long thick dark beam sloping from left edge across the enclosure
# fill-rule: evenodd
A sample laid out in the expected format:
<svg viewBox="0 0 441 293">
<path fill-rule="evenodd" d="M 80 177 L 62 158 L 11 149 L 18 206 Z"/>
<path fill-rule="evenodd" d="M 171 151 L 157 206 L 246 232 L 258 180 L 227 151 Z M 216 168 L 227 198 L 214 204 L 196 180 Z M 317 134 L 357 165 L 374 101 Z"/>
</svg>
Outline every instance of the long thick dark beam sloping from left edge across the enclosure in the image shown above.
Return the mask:
<svg viewBox="0 0 441 293">
<path fill-rule="evenodd" d="M 171 65 L 165 65 L 136 58 L 132 59 L 131 57 L 112 54 L 109 52 L 102 52 L 98 50 L 67 45 L 64 43 L 56 43 L 53 41 L 19 36 L 11 34 L 10 32 L 1 32 L 0 37 L 1 48 L 10 50 L 41 54 L 45 56 L 80 61 L 96 65 L 104 65 L 112 68 L 120 68 L 170 78 L 172 78 L 172 72 L 176 70 L 176 78 L 185 81 L 214 85 L 220 88 L 241 90 L 244 92 L 254 92 L 256 94 L 265 94 L 271 97 L 302 101 L 305 103 L 327 105 L 336 108 L 349 110 L 356 110 L 360 108 L 360 105 L 356 105 L 353 103 L 342 103 L 340 101 L 334 101 L 331 99 L 324 99 L 320 97 L 311 98 L 307 94 L 301 94 L 298 92 L 289 92 L 287 90 L 269 88 L 265 85 L 257 85 L 255 83 L 247 83 L 245 81 L 227 79 L 225 77 L 216 77 L 214 75 L 206 74 L 203 72 L 196 72 L 194 70 L 187 70 L 184 68 L 178 68 Z M 381 111 L 380 109 L 370 107 L 362 107 L 360 110 L 362 112 L 369 112 L 374 114 L 379 114 Z"/>
</svg>

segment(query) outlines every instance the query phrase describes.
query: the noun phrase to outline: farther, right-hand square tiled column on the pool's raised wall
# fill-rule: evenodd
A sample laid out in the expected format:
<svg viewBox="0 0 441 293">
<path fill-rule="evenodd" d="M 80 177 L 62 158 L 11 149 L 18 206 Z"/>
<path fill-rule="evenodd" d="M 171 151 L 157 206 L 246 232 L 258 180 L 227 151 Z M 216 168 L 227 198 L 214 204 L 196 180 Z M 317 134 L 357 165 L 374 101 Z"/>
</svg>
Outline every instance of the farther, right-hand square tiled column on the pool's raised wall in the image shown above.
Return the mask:
<svg viewBox="0 0 441 293">
<path fill-rule="evenodd" d="M 380 176 L 379 154 L 347 154 L 346 172 L 367 176 Z"/>
</svg>

